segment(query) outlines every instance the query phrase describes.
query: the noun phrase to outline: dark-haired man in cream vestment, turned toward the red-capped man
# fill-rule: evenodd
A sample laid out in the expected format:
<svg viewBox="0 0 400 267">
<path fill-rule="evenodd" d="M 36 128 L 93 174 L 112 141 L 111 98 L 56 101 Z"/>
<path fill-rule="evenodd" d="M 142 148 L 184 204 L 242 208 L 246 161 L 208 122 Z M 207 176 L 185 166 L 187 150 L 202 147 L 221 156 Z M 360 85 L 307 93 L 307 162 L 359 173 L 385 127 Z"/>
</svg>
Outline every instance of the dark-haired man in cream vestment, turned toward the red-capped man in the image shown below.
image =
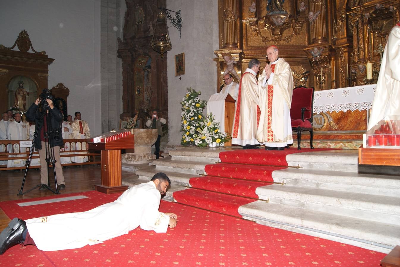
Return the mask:
<svg viewBox="0 0 400 267">
<path fill-rule="evenodd" d="M 239 144 L 243 149 L 259 148 L 255 146 L 260 144 L 256 139 L 258 119 L 260 115 L 259 92 L 261 83 L 265 77 L 263 71 L 258 77 L 260 70 L 260 61 L 251 59 L 246 71 L 240 79 L 238 98 L 236 100 L 235 115 L 232 127 L 232 144 Z"/>
</svg>

